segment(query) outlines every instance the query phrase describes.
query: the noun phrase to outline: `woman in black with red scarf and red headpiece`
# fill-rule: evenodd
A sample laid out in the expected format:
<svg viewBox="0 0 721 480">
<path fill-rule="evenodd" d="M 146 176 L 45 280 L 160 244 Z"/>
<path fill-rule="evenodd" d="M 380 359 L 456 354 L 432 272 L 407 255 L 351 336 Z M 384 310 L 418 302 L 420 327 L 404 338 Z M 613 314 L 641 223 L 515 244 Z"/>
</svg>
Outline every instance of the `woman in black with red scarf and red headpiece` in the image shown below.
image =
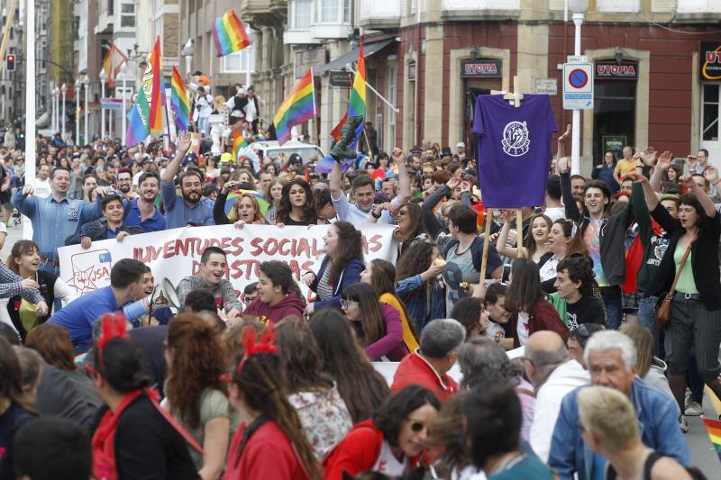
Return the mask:
<svg viewBox="0 0 721 480">
<path fill-rule="evenodd" d="M 93 476 L 98 480 L 199 478 L 186 442 L 200 446 L 148 388 L 141 350 L 127 337 L 125 317 L 108 313 L 102 322 L 103 334 L 88 354 L 86 367 L 106 405 L 93 435 Z"/>
</svg>

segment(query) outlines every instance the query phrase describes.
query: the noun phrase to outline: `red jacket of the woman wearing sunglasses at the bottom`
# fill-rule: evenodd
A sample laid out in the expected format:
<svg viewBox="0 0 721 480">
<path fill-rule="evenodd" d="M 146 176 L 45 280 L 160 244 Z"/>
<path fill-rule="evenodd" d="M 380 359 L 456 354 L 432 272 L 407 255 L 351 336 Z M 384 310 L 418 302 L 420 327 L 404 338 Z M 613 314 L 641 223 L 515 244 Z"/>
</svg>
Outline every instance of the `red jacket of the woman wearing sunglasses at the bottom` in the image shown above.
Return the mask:
<svg viewBox="0 0 721 480">
<path fill-rule="evenodd" d="M 373 468 L 383 446 L 383 432 L 372 420 L 360 421 L 353 426 L 341 442 L 323 459 L 325 480 L 342 480 L 343 472 L 358 475 Z M 415 468 L 421 456 L 410 458 L 409 466 Z"/>
</svg>

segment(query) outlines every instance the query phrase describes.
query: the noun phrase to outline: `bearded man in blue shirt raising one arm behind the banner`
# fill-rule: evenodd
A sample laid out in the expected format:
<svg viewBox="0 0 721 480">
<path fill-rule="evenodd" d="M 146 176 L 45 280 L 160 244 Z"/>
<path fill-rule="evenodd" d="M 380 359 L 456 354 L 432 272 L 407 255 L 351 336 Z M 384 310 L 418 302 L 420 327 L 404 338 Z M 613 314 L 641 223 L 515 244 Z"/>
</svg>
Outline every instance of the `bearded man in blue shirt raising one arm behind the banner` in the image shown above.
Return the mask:
<svg viewBox="0 0 721 480">
<path fill-rule="evenodd" d="M 175 193 L 175 178 L 187 150 L 190 148 L 190 136 L 187 132 L 181 137 L 175 158 L 163 172 L 160 181 L 160 194 L 165 205 L 165 220 L 169 229 L 177 229 L 186 225 L 214 225 L 213 204 L 203 202 L 203 172 L 197 168 L 188 168 L 178 177 L 180 192 Z"/>
</svg>

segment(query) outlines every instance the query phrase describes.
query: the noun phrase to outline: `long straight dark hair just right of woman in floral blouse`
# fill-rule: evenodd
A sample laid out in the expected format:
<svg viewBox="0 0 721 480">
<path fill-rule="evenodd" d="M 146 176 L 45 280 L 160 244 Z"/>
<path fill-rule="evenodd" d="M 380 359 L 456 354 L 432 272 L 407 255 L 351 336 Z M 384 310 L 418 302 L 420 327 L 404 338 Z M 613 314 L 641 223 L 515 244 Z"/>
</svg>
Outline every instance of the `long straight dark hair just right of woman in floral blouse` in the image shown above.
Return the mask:
<svg viewBox="0 0 721 480">
<path fill-rule="evenodd" d="M 308 322 L 329 373 L 345 401 L 354 423 L 370 415 L 390 394 L 388 383 L 370 364 L 341 312 L 325 309 Z"/>
</svg>

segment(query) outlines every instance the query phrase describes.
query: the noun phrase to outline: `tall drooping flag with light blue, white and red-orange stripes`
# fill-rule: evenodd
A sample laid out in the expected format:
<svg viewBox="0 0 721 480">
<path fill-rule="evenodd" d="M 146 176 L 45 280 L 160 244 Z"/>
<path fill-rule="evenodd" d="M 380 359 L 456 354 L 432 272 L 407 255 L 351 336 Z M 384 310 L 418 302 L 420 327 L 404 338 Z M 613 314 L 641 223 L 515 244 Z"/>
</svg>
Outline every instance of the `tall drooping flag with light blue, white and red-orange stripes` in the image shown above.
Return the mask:
<svg viewBox="0 0 721 480">
<path fill-rule="evenodd" d="M 148 138 L 151 133 L 163 130 L 162 118 L 162 69 L 160 65 L 160 37 L 155 39 L 151 58 L 141 86 L 138 88 L 137 99 L 128 113 L 128 131 L 125 134 L 125 145 L 132 147 Z"/>
</svg>

